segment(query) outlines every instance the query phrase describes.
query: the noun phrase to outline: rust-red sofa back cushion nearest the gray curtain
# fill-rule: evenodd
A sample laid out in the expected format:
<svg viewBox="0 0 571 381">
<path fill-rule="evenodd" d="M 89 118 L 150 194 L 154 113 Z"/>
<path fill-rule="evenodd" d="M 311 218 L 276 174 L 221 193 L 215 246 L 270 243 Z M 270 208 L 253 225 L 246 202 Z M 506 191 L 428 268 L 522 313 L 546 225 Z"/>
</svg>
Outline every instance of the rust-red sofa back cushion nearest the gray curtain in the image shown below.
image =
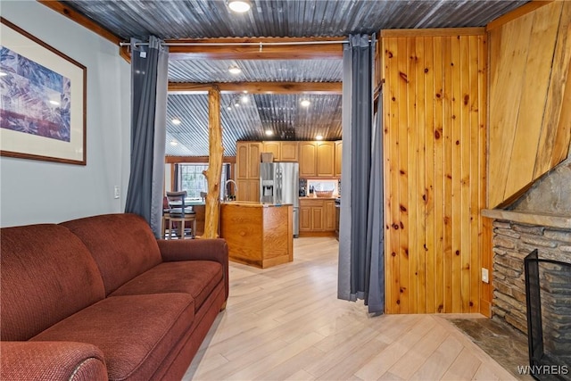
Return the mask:
<svg viewBox="0 0 571 381">
<path fill-rule="evenodd" d="M 103 214 L 61 225 L 86 244 L 101 271 L 106 295 L 161 263 L 153 231 L 136 214 Z"/>
</svg>

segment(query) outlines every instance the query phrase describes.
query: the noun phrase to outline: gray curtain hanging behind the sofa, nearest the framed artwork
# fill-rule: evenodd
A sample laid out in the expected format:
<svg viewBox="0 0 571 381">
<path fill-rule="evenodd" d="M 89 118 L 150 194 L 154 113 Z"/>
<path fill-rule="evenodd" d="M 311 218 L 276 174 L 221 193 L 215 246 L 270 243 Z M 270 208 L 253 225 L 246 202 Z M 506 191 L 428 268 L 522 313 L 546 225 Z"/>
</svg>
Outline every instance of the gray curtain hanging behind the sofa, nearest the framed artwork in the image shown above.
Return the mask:
<svg viewBox="0 0 571 381">
<path fill-rule="evenodd" d="M 125 211 L 161 236 L 169 51 L 161 40 L 131 40 L 131 168 Z"/>
</svg>

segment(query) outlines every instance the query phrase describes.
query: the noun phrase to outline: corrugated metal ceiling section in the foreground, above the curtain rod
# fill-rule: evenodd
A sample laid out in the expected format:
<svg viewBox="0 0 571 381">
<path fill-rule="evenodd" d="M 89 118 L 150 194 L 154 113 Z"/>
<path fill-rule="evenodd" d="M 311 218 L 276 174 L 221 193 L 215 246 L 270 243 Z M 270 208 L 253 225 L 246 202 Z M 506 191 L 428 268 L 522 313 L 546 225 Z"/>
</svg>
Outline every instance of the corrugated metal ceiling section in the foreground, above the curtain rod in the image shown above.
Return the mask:
<svg viewBox="0 0 571 381">
<path fill-rule="evenodd" d="M 222 0 L 62 1 L 119 37 L 339 37 L 380 29 L 483 27 L 527 1 L 252 0 L 230 12 Z"/>
</svg>

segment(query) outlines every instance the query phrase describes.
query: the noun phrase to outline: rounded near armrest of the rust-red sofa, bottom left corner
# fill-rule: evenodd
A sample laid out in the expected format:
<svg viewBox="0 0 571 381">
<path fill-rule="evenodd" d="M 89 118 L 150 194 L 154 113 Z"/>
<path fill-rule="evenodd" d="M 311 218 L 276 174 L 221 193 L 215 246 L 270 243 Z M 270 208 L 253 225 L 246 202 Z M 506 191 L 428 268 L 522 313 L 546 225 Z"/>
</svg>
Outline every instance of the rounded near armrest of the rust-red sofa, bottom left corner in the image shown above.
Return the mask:
<svg viewBox="0 0 571 381">
<path fill-rule="evenodd" d="M 107 380 L 103 352 L 72 342 L 0 342 L 0 379 Z"/>
</svg>

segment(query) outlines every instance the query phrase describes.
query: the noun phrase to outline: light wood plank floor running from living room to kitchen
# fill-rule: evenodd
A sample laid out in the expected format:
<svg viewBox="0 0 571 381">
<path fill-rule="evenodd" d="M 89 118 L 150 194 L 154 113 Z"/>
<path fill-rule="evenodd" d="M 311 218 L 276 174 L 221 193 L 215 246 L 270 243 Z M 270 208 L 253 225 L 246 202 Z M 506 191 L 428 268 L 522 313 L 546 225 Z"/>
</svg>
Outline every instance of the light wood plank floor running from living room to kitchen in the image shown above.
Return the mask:
<svg viewBox="0 0 571 381">
<path fill-rule="evenodd" d="M 184 379 L 514 379 L 443 315 L 372 317 L 337 300 L 337 247 L 297 238 L 292 263 L 230 262 L 227 309 Z"/>
</svg>

